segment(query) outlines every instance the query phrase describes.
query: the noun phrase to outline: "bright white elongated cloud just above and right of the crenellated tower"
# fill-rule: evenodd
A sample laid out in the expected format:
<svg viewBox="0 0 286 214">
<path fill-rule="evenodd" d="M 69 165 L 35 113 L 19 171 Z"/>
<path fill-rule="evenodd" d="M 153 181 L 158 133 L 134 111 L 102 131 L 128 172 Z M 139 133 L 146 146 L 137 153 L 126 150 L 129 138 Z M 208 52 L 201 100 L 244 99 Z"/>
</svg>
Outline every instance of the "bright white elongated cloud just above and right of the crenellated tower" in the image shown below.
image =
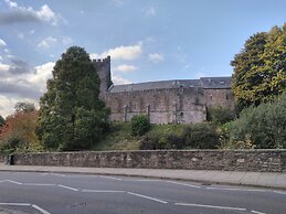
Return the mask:
<svg viewBox="0 0 286 214">
<path fill-rule="evenodd" d="M 141 43 L 129 46 L 118 46 L 115 49 L 110 49 L 102 54 L 91 54 L 91 58 L 105 58 L 106 56 L 110 56 L 113 60 L 134 60 L 141 55 L 142 49 Z"/>
</svg>

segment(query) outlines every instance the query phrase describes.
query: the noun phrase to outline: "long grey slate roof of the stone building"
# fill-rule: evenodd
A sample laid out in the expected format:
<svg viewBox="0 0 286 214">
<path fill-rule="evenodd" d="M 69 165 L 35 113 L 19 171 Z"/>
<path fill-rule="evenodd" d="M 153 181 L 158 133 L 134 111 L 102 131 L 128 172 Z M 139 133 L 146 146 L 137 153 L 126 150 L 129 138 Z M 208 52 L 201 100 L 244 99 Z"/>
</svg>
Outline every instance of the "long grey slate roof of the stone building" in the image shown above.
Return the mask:
<svg viewBox="0 0 286 214">
<path fill-rule="evenodd" d="M 230 88 L 231 77 L 203 77 L 200 79 L 173 79 L 173 81 L 159 81 L 146 82 L 137 84 L 114 85 L 109 88 L 110 93 L 119 92 L 134 92 L 134 90 L 148 90 L 148 89 L 168 89 L 168 88 Z"/>
</svg>

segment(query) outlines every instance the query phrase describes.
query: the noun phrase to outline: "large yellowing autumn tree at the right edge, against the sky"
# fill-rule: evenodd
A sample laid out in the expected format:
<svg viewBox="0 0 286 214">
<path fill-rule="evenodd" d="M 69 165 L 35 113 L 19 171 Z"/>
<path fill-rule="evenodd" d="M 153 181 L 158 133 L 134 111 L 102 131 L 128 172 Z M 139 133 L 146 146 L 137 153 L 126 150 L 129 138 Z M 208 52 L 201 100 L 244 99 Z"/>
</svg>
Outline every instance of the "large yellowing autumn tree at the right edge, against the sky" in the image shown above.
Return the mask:
<svg viewBox="0 0 286 214">
<path fill-rule="evenodd" d="M 286 23 L 256 33 L 231 62 L 239 109 L 273 100 L 286 90 Z"/>
</svg>

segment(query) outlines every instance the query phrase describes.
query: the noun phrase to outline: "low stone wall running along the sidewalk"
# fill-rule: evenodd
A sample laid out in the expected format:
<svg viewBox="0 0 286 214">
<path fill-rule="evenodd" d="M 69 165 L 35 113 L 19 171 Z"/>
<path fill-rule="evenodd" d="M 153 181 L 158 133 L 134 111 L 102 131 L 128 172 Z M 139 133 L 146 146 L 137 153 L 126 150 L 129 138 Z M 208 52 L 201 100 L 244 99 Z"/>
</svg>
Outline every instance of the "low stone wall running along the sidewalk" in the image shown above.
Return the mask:
<svg viewBox="0 0 286 214">
<path fill-rule="evenodd" d="M 157 150 L 18 153 L 20 165 L 286 172 L 286 150 Z"/>
</svg>

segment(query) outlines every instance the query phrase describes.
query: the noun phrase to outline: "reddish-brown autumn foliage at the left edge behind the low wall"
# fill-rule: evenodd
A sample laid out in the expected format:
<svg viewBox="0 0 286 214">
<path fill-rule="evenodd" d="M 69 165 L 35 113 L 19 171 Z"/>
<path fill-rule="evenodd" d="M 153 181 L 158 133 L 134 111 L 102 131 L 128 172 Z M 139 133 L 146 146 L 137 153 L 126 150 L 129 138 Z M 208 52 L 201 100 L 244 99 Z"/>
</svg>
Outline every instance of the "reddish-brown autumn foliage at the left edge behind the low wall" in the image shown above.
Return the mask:
<svg viewBox="0 0 286 214">
<path fill-rule="evenodd" d="M 36 151 L 42 147 L 35 136 L 38 111 L 15 111 L 0 127 L 0 149 L 12 151 Z"/>
</svg>

